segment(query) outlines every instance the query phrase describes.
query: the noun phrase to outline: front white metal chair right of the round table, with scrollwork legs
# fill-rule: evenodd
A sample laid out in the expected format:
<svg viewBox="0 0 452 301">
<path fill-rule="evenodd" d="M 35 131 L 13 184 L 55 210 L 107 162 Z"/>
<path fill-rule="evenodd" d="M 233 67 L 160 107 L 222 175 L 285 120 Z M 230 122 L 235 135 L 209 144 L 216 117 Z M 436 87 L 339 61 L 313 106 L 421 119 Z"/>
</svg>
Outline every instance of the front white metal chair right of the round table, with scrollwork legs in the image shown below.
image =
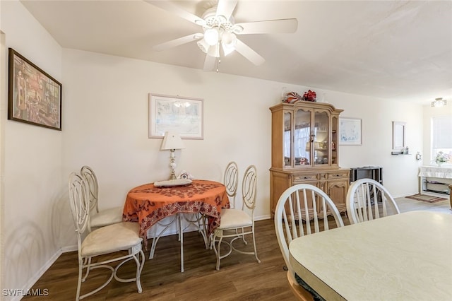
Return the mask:
<svg viewBox="0 0 452 301">
<path fill-rule="evenodd" d="M 254 255 L 257 257 L 256 239 L 254 237 L 254 208 L 256 207 L 256 167 L 250 165 L 246 168 L 242 182 L 242 208 L 225 208 L 221 211 L 220 226 L 213 231 L 213 251 L 217 256 L 217 270 L 220 270 L 220 260 L 229 256 L 232 250 L 241 254 Z M 248 211 L 248 212 L 246 212 Z M 239 250 L 233 246 L 235 240 L 242 238 L 244 244 L 247 244 L 245 235 L 252 235 L 254 252 L 246 252 Z M 229 247 L 226 254 L 220 255 L 220 248 L 223 238 L 230 238 L 229 242 L 225 240 L 225 244 Z M 218 239 L 218 240 L 217 240 Z M 218 242 L 218 243 L 217 243 Z"/>
</svg>

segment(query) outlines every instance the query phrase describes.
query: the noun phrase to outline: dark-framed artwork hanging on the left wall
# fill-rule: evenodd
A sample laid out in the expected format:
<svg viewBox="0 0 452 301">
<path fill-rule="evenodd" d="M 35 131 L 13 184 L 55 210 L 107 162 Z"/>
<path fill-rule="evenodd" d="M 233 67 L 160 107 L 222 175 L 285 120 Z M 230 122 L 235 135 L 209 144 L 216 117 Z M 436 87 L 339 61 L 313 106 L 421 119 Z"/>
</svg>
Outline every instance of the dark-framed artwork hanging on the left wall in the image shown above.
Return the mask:
<svg viewBox="0 0 452 301">
<path fill-rule="evenodd" d="M 61 83 L 8 50 L 8 119 L 61 131 Z"/>
</svg>

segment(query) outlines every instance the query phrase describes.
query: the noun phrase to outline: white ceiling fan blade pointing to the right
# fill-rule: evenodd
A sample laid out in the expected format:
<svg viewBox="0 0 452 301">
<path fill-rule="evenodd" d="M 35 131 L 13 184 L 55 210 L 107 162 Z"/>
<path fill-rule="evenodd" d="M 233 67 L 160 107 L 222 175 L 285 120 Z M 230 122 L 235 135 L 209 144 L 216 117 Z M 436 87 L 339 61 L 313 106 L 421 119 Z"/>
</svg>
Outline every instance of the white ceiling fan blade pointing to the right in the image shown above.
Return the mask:
<svg viewBox="0 0 452 301">
<path fill-rule="evenodd" d="M 297 19 L 280 19 L 280 20 L 265 20 L 248 23 L 237 23 L 237 28 L 243 30 L 234 31 L 239 35 L 249 35 L 255 33 L 295 33 L 298 28 Z"/>
</svg>

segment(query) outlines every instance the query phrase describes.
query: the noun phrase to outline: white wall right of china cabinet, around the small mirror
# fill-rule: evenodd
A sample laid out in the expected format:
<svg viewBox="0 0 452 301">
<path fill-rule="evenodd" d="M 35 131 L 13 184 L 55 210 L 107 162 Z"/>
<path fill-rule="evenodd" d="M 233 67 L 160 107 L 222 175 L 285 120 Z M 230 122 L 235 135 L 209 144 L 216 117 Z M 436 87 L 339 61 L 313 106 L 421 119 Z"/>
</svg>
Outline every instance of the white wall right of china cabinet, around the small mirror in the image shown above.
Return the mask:
<svg viewBox="0 0 452 301">
<path fill-rule="evenodd" d="M 422 152 L 422 105 L 344 95 L 334 101 L 343 117 L 362 119 L 362 146 L 340 146 L 341 167 L 381 166 L 383 184 L 394 197 L 418 192 L 415 159 Z M 406 146 L 412 155 L 391 155 L 392 122 L 406 122 Z"/>
</svg>

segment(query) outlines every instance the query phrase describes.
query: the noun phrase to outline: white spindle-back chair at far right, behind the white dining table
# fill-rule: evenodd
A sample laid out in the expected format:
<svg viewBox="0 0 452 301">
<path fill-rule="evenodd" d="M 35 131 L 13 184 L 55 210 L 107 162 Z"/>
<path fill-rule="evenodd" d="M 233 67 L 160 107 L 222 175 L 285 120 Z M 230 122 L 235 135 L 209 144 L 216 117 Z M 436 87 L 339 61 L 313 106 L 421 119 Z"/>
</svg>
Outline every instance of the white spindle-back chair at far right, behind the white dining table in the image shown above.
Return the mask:
<svg viewBox="0 0 452 301">
<path fill-rule="evenodd" d="M 388 189 L 374 179 L 359 179 L 347 191 L 347 216 L 351 224 L 400 213 Z"/>
</svg>

